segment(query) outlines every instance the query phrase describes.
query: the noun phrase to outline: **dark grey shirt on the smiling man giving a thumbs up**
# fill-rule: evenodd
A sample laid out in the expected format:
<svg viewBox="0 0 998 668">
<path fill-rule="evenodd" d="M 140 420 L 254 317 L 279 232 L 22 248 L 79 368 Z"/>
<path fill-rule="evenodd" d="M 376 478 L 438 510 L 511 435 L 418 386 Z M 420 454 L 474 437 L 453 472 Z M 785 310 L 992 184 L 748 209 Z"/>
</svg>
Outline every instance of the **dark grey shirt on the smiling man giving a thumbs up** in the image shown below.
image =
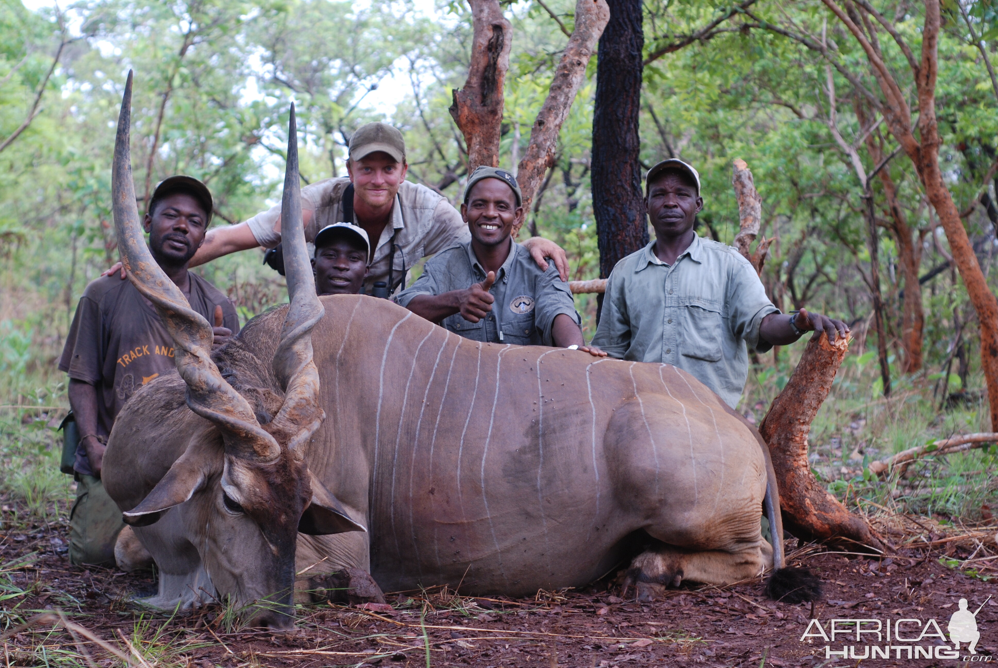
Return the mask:
<svg viewBox="0 0 998 668">
<path fill-rule="evenodd" d="M 559 314 L 569 316 L 576 325 L 581 323 L 575 311 L 575 300 L 568 284 L 558 276 L 554 263 L 542 272 L 527 249 L 513 240 L 509 257 L 496 275 L 489 293 L 495 298 L 488 317 L 469 323 L 454 314 L 442 325 L 454 334 L 490 343 L 518 345 L 554 345 L 551 326 Z M 419 295 L 442 295 L 452 290 L 467 290 L 485 280 L 487 272 L 478 264 L 471 242 L 458 244 L 442 251 L 426 263 L 423 274 L 412 287 L 395 297 L 395 302 L 408 307 Z M 499 333 L 502 332 L 502 338 Z"/>
</svg>

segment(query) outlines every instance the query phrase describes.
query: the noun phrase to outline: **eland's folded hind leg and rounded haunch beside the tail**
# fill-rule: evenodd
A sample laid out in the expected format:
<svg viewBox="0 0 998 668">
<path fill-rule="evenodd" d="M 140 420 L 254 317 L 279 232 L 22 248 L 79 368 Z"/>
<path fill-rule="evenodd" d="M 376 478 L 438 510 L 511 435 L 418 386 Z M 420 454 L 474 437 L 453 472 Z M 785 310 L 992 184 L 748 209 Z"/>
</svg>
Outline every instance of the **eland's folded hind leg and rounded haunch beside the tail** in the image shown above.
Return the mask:
<svg viewBox="0 0 998 668">
<path fill-rule="evenodd" d="M 659 542 L 634 559 L 625 592 L 649 600 L 683 580 L 724 585 L 771 567 L 765 459 L 749 428 L 706 387 L 636 389 L 608 425 L 607 463 L 622 512 Z"/>
</svg>

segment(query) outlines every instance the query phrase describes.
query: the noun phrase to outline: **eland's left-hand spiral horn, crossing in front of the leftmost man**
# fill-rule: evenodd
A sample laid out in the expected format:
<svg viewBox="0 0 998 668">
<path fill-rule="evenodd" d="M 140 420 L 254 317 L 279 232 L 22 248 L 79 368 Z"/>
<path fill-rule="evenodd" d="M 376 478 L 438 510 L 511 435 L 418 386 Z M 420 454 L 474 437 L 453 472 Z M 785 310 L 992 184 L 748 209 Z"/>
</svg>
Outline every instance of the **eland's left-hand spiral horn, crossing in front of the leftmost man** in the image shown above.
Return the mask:
<svg viewBox="0 0 998 668">
<path fill-rule="evenodd" d="M 212 326 L 191 309 L 184 294 L 156 264 L 139 225 L 130 148 L 132 72 L 118 117 L 111 177 L 118 251 L 129 281 L 153 303 L 176 345 L 177 370 L 187 383 L 187 403 L 219 427 L 232 454 L 269 461 L 280 453 L 273 436 L 260 428 L 250 403 L 230 385 L 212 361 Z"/>
</svg>

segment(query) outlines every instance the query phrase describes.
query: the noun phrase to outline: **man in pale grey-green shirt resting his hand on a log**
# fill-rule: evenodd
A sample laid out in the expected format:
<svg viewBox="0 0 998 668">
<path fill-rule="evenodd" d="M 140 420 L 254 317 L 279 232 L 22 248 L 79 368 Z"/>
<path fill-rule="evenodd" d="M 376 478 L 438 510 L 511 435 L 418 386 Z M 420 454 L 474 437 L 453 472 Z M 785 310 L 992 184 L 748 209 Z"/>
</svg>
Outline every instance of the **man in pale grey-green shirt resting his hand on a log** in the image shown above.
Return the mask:
<svg viewBox="0 0 998 668">
<path fill-rule="evenodd" d="M 690 165 L 653 167 L 645 205 L 656 240 L 617 263 L 593 337 L 611 356 L 679 366 L 734 408 L 749 377 L 749 346 L 764 352 L 804 332 L 835 340 L 849 331 L 804 310 L 781 315 L 749 261 L 694 232 L 704 200 Z"/>
</svg>

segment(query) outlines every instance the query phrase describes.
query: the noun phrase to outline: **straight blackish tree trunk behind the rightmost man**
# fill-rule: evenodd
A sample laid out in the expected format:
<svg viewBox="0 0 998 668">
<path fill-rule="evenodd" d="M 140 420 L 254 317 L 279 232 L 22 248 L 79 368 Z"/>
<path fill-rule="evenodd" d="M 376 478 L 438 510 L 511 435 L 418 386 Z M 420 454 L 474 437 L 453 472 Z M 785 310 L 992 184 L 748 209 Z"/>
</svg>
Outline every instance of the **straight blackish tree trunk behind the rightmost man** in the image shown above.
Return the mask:
<svg viewBox="0 0 998 668">
<path fill-rule="evenodd" d="M 593 111 L 593 213 L 600 277 L 648 244 L 638 136 L 641 111 L 641 0 L 609 0 L 610 21 L 600 38 Z"/>
</svg>

